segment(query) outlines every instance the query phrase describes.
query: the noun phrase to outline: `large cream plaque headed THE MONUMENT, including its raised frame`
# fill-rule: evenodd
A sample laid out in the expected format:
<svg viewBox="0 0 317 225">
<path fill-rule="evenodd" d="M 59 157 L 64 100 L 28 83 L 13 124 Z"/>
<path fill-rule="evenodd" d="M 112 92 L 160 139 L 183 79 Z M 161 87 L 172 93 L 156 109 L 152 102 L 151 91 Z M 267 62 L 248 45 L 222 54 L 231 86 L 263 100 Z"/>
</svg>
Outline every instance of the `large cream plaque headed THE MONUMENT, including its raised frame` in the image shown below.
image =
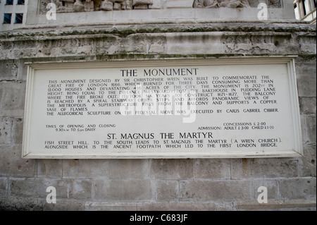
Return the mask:
<svg viewBox="0 0 317 225">
<path fill-rule="evenodd" d="M 25 158 L 302 154 L 294 59 L 32 63 Z"/>
</svg>

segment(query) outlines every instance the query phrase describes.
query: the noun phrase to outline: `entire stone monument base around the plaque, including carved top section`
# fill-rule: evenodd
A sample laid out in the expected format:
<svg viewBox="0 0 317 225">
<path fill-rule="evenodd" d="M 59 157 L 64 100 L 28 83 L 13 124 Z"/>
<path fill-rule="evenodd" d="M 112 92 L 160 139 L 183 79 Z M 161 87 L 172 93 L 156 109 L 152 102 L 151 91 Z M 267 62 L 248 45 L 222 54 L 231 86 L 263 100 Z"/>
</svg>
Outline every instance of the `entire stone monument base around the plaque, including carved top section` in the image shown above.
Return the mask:
<svg viewBox="0 0 317 225">
<path fill-rule="evenodd" d="M 1 0 L 0 209 L 316 210 L 316 25 L 296 20 L 292 1 L 20 3 Z M 21 157 L 29 63 L 290 56 L 302 157 Z M 49 187 L 56 203 L 46 201 Z M 260 187 L 267 203 L 258 201 Z"/>
</svg>

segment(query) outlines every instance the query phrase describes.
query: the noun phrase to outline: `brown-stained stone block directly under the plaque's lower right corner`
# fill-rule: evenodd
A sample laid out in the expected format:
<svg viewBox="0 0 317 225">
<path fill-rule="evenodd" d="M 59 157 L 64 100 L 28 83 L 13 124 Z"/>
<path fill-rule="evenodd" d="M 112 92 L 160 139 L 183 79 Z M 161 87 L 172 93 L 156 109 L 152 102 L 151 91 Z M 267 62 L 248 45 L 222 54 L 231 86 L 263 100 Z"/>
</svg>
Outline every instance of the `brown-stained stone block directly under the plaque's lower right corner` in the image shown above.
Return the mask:
<svg viewBox="0 0 317 225">
<path fill-rule="evenodd" d="M 298 176 L 295 159 L 232 159 L 232 179 Z"/>
</svg>

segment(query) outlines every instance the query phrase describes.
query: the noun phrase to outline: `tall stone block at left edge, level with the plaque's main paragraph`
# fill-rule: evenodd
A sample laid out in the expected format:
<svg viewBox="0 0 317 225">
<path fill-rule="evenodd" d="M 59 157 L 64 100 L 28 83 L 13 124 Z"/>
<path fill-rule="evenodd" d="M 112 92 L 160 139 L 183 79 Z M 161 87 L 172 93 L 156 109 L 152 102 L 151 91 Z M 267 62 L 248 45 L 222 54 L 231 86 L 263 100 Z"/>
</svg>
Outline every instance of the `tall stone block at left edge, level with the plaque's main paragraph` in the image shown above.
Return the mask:
<svg viewBox="0 0 317 225">
<path fill-rule="evenodd" d="M 25 87 L 25 81 L 20 80 L 0 83 L 1 116 L 24 116 Z"/>
</svg>

